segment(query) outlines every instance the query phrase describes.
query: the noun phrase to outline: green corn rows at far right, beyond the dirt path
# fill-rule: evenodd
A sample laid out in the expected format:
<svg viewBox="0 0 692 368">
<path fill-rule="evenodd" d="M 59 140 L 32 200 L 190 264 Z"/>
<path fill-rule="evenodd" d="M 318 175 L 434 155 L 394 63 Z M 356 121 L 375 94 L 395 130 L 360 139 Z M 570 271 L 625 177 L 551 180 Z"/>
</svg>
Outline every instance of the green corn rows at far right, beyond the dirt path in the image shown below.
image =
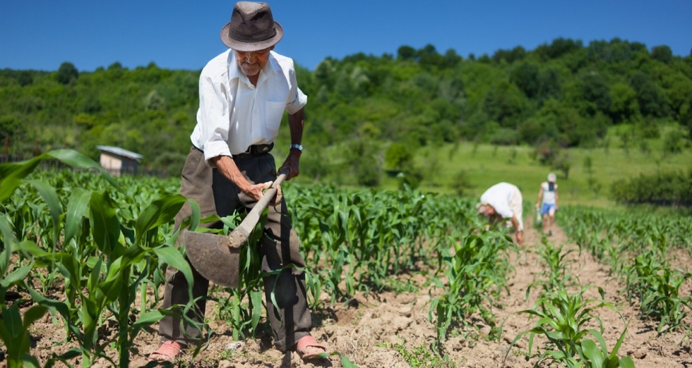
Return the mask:
<svg viewBox="0 0 692 368">
<path fill-rule="evenodd" d="M 611 264 L 611 272 L 624 279 L 626 298 L 638 305 L 640 318 L 657 321 L 659 333 L 689 329 L 683 320 L 692 309 L 692 298 L 681 295 L 681 286 L 692 274 L 673 269 L 668 258 L 670 249 L 688 250 L 692 244 L 688 215 L 583 207 L 561 211 L 560 221 L 571 224 L 563 226 L 568 236 L 599 261 Z"/>
</svg>

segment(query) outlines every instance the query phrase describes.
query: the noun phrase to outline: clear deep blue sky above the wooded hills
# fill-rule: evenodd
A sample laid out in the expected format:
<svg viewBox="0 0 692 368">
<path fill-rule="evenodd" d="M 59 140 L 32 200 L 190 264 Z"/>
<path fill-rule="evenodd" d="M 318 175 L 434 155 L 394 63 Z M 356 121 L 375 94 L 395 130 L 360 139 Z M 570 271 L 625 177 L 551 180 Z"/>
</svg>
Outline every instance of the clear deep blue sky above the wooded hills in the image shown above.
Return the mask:
<svg viewBox="0 0 692 368">
<path fill-rule="evenodd" d="M 276 51 L 309 69 L 328 56 L 396 54 L 433 44 L 463 57 L 553 39 L 619 37 L 673 54 L 692 50 L 692 0 L 269 0 L 285 30 Z M 0 0 L 0 68 L 198 70 L 225 50 L 234 1 Z"/>
</svg>

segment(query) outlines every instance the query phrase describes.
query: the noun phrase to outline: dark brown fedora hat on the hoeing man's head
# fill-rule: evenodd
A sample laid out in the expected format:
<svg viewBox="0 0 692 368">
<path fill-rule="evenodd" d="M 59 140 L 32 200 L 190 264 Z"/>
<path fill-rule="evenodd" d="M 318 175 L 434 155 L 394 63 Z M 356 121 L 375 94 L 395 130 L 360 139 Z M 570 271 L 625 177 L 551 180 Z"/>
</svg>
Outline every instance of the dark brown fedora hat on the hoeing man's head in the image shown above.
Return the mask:
<svg viewBox="0 0 692 368">
<path fill-rule="evenodd" d="M 221 41 L 237 51 L 258 51 L 275 45 L 284 30 L 274 21 L 269 4 L 239 1 L 231 21 L 221 29 Z"/>
</svg>

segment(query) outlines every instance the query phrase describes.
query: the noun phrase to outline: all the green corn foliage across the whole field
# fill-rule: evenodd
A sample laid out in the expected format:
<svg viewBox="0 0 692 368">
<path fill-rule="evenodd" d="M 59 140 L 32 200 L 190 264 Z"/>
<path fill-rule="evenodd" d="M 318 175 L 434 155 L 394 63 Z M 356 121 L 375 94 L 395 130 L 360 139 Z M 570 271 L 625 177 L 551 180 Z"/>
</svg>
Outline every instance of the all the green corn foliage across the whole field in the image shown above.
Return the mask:
<svg viewBox="0 0 692 368">
<path fill-rule="evenodd" d="M 47 159 L 91 171 L 35 170 Z M 599 162 L 589 161 L 585 166 L 595 170 Z M 132 340 L 140 331 L 164 315 L 180 315 L 190 307 L 157 309 L 160 295 L 150 297 L 150 290 L 158 290 L 162 282 L 165 264 L 183 271 L 187 266 L 181 252 L 172 247 L 177 238 L 172 219 L 185 202 L 171 194 L 177 191 L 178 179 L 112 178 L 103 171 L 94 175 L 95 171 L 99 171 L 95 162 L 69 150 L 0 165 L 0 299 L 6 300 L 0 312 L 11 316 L 0 324 L 0 338 L 7 347 L 8 366 L 35 365 L 37 357 L 32 357 L 27 344 L 30 326 L 46 311 L 59 315 L 67 339 L 77 344 L 64 355 L 46 357 L 47 364 L 81 359 L 88 366 L 104 357 L 109 347 L 119 352 L 118 362 L 111 359 L 110 364 L 127 364 Z M 437 267 L 434 275 L 426 276 L 432 276 L 436 288 L 429 319 L 438 327 L 438 344 L 400 344 L 397 350 L 407 362 L 453 366 L 439 351 L 439 342 L 447 333 L 460 333 L 454 330 L 458 327 L 475 329 L 467 321 L 478 316 L 491 327 L 488 337 L 497 338 L 501 329 L 492 309 L 507 290 L 511 265 L 506 250 L 515 248 L 500 231 L 484 228 L 486 224 L 475 216 L 475 200 L 410 188 L 345 191 L 292 184 L 284 190 L 294 214 L 292 223 L 303 240 L 306 288 L 313 307 L 324 302 L 322 294 L 345 301 L 356 291 L 410 290 L 412 285 L 393 282 L 393 276 L 417 274 L 424 263 Z M 310 216 L 299 215 L 306 213 Z M 222 219 L 225 228 L 220 231 L 228 233 L 239 219 Z M 191 228 L 198 221 L 193 205 Z M 690 300 L 680 295 L 680 286 L 691 276 L 670 269 L 665 257 L 671 247 L 691 243 L 688 216 L 561 206 L 558 221 L 568 221 L 563 228 L 570 238 L 599 261 L 617 265 L 629 252 L 641 254 L 641 262 L 631 262 L 636 266 L 620 264 L 612 272 L 628 275 L 628 299 L 640 302 L 640 317 L 657 319 L 661 332 L 681 326 Z M 225 299 L 215 298 L 219 290 L 210 294 L 236 338 L 247 336 L 246 332 L 253 336 L 261 317 L 258 283 L 265 275 L 258 271 L 260 260 L 253 246 L 260 236 L 261 232 L 253 232 L 244 248 L 243 286 L 224 293 L 229 295 Z M 544 360 L 567 366 L 631 367 L 628 357 L 618 356 L 626 327 L 613 347 L 605 344 L 602 329 L 592 328 L 599 323 L 592 311 L 612 307 L 602 295 L 585 299 L 585 289 L 576 295 L 553 290 L 568 286 L 568 255 L 574 251 L 545 244 L 541 252 L 547 272 L 541 275 L 544 282 L 537 284 L 544 293 L 533 312 L 525 311 L 540 317 L 523 336 L 531 333 L 530 340 L 545 336 L 551 341 Z M 61 300 L 41 293 L 55 286 L 63 288 Z M 35 303 L 21 318 L 16 315 L 23 300 L 4 298 L 8 288 L 25 291 Z M 141 302 L 135 303 L 135 297 Z M 106 321 L 119 326 L 116 336 L 98 336 Z M 340 357 L 344 367 L 353 367 L 347 357 Z"/>
</svg>

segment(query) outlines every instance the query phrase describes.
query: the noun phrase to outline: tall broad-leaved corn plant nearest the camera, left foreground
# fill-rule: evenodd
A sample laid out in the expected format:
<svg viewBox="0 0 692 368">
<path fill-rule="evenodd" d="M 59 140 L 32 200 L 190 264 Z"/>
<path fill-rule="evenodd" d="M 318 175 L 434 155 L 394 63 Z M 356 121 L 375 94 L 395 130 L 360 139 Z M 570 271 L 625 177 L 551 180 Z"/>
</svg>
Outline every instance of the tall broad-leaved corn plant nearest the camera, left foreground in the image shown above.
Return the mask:
<svg viewBox="0 0 692 368">
<path fill-rule="evenodd" d="M 94 161 L 70 150 L 57 150 L 43 154 L 30 161 L 16 164 L 0 165 L 0 200 L 6 200 L 23 184 L 23 178 L 28 176 L 42 159 L 55 158 L 65 164 L 79 168 L 100 170 L 116 190 L 121 190 L 113 178 L 107 175 Z M 80 347 L 70 350 L 70 354 L 80 352 L 83 367 L 89 367 L 95 357 L 104 357 L 112 362 L 104 350 L 114 343 L 119 352 L 119 364 L 129 365 L 129 348 L 139 331 L 145 326 L 160 320 L 170 311 L 142 312 L 134 323 L 131 323 L 131 305 L 138 293 L 138 287 L 145 278 L 153 275 L 162 264 L 171 264 L 183 271 L 186 278 L 192 279 L 189 265 L 182 254 L 174 249 L 172 238 L 162 242 L 159 228 L 164 223 L 172 221 L 185 199 L 180 195 L 167 195 L 153 201 L 134 223 L 134 228 L 125 228 L 118 219 L 118 204 L 112 200 L 107 190 L 76 191 L 67 204 L 65 211 L 56 190 L 41 180 L 26 180 L 49 207 L 49 218 L 52 219 L 49 233 L 42 240 L 42 245 L 25 240 L 14 248 L 21 254 L 30 255 L 30 269 L 52 267 L 58 269 L 65 278 L 66 295 L 64 302 L 49 300 L 40 293 L 25 285 L 32 299 L 37 303 L 36 309 L 30 309 L 23 325 L 40 312 L 48 309 L 61 314 L 66 324 L 67 338 L 74 338 Z M 196 219 L 198 219 L 198 210 Z M 64 220 L 62 226 L 61 220 Z M 88 226 L 87 226 L 88 224 Z M 196 225 L 195 225 L 196 226 Z M 93 245 L 73 243 L 80 238 L 80 231 L 88 231 Z M 4 234 L 6 249 L 8 241 L 16 237 Z M 82 234 L 84 235 L 84 234 Z M 163 243 L 163 244 L 162 244 Z M 63 245 L 67 244 L 67 247 Z M 46 249 L 49 250 L 46 250 Z M 87 248 L 88 251 L 85 252 Z M 91 253 L 92 250 L 97 252 Z M 191 289 L 189 290 L 191 293 Z M 78 302 L 78 301 L 79 302 Z M 34 312 L 36 311 L 36 312 Z M 107 317 L 109 312 L 111 317 Z M 9 313 L 11 316 L 15 314 Z M 16 316 L 15 316 L 16 317 Z M 113 318 L 119 325 L 114 341 L 100 341 L 97 329 L 106 318 Z M 10 321 L 11 321 L 10 320 Z M 15 325 L 16 321 L 13 322 Z M 25 326 L 28 328 L 28 326 Z M 3 336 L 4 338 L 4 336 Z M 6 342 L 6 341 L 5 341 Z M 21 349 L 23 345 L 18 345 Z M 8 352 L 13 354 L 14 352 Z"/>
</svg>

